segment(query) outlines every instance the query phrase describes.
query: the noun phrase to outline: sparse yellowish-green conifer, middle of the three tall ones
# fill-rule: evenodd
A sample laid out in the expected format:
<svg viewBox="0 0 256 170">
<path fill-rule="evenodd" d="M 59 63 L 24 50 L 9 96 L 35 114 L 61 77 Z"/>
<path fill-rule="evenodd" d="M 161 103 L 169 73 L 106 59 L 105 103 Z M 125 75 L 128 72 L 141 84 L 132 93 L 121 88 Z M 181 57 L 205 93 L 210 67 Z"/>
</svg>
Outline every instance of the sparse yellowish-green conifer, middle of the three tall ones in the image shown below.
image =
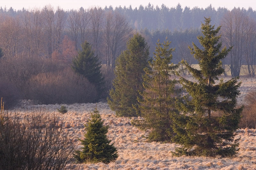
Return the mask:
<svg viewBox="0 0 256 170">
<path fill-rule="evenodd" d="M 145 68 L 143 98 L 139 98 L 144 120 L 132 122 L 143 130 L 151 130 L 149 141 L 170 142 L 173 137 L 172 115 L 177 114 L 175 97 L 179 89 L 175 89 L 177 81 L 171 75 L 175 74 L 179 65 L 171 61 L 175 49 L 170 49 L 170 43 L 167 38 L 162 44 L 158 40 L 153 60 L 149 62 L 150 68 Z"/>
</svg>

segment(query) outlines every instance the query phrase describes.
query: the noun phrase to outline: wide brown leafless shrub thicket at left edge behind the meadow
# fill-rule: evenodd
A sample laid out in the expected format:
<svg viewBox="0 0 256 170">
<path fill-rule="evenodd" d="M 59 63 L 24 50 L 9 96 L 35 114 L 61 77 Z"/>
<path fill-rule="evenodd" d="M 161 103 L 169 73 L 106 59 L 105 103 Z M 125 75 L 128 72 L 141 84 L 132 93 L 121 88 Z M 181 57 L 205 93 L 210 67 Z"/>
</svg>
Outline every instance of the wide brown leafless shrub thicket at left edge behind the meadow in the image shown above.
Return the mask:
<svg viewBox="0 0 256 170">
<path fill-rule="evenodd" d="M 4 101 L 19 96 L 41 104 L 72 104 L 94 102 L 97 97 L 95 87 L 74 73 L 70 63 L 47 58 L 2 58 L 0 80 L 0 97 L 4 97 Z"/>
</svg>

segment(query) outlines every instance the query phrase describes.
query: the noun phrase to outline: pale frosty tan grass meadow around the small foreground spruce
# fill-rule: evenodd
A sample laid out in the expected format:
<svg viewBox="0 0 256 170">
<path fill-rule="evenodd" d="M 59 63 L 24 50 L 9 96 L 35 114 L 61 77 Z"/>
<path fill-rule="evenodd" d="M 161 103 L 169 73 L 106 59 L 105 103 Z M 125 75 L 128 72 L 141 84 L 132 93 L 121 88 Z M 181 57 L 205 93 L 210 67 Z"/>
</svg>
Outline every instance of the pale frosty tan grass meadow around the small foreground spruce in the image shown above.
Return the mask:
<svg viewBox="0 0 256 170">
<path fill-rule="evenodd" d="M 224 80 L 228 78 L 223 77 Z M 243 98 L 250 91 L 256 90 L 256 79 L 243 77 L 240 79 L 242 86 L 239 104 L 243 104 Z M 90 112 L 96 104 L 72 104 L 65 105 L 68 109 L 66 114 L 60 114 L 57 109 L 61 105 L 33 105 L 32 102 L 24 101 L 13 111 L 19 112 L 20 116 L 28 111 L 44 111 L 45 114 L 55 114 L 63 124 L 65 132 L 71 134 L 70 140 L 81 148 L 80 141 L 83 139 L 84 123 L 90 119 Z M 109 125 L 108 138 L 115 142 L 118 150 L 118 159 L 110 164 L 68 164 L 67 169 L 256 169 L 256 143 L 255 129 L 239 129 L 237 136 L 240 139 L 240 150 L 236 158 L 208 158 L 208 157 L 173 157 L 172 151 L 177 144 L 147 143 L 143 132 L 131 125 L 135 118 L 118 118 L 115 112 L 109 109 L 108 104 L 98 103 L 97 109 Z"/>
</svg>

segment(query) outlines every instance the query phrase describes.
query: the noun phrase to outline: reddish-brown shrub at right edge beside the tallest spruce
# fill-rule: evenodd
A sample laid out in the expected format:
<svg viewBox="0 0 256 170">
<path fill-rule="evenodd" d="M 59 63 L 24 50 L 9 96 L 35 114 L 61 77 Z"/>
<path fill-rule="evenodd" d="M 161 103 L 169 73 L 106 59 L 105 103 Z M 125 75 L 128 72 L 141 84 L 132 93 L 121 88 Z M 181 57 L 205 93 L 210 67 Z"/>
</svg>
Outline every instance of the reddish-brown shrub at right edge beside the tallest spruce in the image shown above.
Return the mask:
<svg viewBox="0 0 256 170">
<path fill-rule="evenodd" d="M 242 112 L 240 128 L 256 128 L 256 91 L 248 93 L 244 98 L 244 109 Z"/>
</svg>

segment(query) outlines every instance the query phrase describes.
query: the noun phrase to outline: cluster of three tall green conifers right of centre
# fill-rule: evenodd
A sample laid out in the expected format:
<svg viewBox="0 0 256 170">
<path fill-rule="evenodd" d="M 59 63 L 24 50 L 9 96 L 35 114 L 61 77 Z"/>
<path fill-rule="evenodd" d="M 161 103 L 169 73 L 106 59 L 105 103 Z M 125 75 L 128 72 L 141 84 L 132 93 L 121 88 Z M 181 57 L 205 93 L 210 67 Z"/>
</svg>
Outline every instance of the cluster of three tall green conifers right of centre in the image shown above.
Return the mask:
<svg viewBox="0 0 256 170">
<path fill-rule="evenodd" d="M 151 130 L 149 141 L 181 144 L 174 155 L 234 157 L 239 150 L 238 139 L 234 137 L 243 111 L 243 107 L 236 106 L 241 82 L 238 82 L 238 77 L 225 82 L 219 80 L 225 71 L 221 60 L 231 50 L 223 48 L 219 42 L 221 27 L 215 29 L 211 18 L 205 18 L 201 28 L 202 35 L 198 40 L 202 48 L 195 43 L 193 48 L 189 47 L 200 69 L 181 61 L 193 76 L 193 81 L 179 75 L 179 65 L 171 61 L 174 49 L 170 48 L 168 40 L 157 43 L 152 61 L 136 53 L 131 57 L 129 50 L 138 43 L 130 41 L 127 43 L 129 50 L 116 62 L 116 78 L 108 102 L 117 116 L 142 116 L 142 120 L 132 123 Z M 138 66 L 143 65 L 136 64 L 142 61 L 148 61 L 148 65 L 143 67 L 144 72 L 139 73 Z M 131 70 L 133 64 L 136 70 Z M 175 77 L 180 78 L 176 80 Z M 135 88 L 138 82 L 141 88 Z M 138 92 L 135 93 L 135 89 Z M 187 95 L 179 93 L 181 90 Z"/>
</svg>

